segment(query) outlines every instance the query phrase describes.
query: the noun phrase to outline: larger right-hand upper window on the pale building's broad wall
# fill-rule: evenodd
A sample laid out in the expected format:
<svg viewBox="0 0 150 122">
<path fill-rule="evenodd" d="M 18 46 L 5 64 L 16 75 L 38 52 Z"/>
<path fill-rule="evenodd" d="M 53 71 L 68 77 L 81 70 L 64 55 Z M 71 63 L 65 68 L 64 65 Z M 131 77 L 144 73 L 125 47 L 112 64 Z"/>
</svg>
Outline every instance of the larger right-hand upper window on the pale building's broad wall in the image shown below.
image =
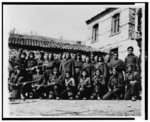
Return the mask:
<svg viewBox="0 0 150 122">
<path fill-rule="evenodd" d="M 119 26 L 120 26 L 120 14 L 117 13 L 112 17 L 112 34 L 119 32 Z"/>
</svg>

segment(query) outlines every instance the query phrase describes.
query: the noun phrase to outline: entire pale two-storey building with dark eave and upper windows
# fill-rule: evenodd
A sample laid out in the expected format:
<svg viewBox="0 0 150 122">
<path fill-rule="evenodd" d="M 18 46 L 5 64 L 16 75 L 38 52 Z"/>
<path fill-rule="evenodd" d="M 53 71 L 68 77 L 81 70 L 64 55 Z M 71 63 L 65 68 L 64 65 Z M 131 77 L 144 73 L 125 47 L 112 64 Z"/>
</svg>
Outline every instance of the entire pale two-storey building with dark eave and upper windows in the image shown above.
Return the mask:
<svg viewBox="0 0 150 122">
<path fill-rule="evenodd" d="M 86 45 L 109 53 L 116 51 L 119 58 L 127 55 L 127 47 L 133 46 L 139 56 L 141 48 L 141 8 L 106 8 L 88 19 L 88 39 Z"/>
</svg>

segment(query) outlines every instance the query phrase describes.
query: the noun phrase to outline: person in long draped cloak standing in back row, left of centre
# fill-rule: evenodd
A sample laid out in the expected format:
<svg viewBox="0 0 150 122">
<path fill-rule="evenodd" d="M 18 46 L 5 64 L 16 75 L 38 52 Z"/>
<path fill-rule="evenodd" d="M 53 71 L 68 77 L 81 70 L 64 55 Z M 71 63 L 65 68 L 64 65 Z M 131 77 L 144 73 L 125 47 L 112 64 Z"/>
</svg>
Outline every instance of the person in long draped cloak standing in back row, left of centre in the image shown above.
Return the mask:
<svg viewBox="0 0 150 122">
<path fill-rule="evenodd" d="M 63 59 L 61 61 L 60 67 L 59 67 L 59 71 L 61 72 L 63 79 L 65 79 L 65 74 L 67 71 L 69 71 L 72 75 L 72 77 L 74 77 L 74 62 L 71 59 L 70 53 L 66 53 L 65 55 L 65 59 Z"/>
</svg>

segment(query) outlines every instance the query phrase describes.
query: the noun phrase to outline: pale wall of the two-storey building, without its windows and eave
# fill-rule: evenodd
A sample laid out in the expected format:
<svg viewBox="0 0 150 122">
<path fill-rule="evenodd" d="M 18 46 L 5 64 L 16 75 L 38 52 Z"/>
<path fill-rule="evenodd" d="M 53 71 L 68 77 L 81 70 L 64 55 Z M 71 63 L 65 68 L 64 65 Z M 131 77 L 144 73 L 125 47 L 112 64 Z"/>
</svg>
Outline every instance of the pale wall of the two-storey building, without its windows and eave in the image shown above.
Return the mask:
<svg viewBox="0 0 150 122">
<path fill-rule="evenodd" d="M 111 35 L 112 16 L 116 13 L 120 13 L 120 31 L 115 35 Z M 133 13 L 134 9 L 119 8 L 89 24 L 86 45 L 108 53 L 111 49 L 118 48 L 119 58 L 121 59 L 124 59 L 127 55 L 127 47 L 134 46 L 135 54 L 139 55 L 137 42 L 133 39 L 135 31 L 135 15 Z M 97 23 L 99 24 L 98 40 L 92 43 L 92 29 L 93 25 Z"/>
</svg>

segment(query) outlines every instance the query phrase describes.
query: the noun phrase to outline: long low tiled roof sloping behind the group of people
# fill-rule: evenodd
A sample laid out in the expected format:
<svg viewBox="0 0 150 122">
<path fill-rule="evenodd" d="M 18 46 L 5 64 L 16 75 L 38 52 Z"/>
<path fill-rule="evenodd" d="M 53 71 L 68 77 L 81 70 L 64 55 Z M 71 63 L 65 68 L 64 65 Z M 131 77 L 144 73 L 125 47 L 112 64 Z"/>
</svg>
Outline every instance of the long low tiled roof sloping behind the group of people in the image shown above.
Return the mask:
<svg viewBox="0 0 150 122">
<path fill-rule="evenodd" d="M 50 39 L 50 38 L 49 38 Z M 40 47 L 43 49 L 62 49 L 82 52 L 101 52 L 99 49 L 85 45 L 56 42 L 56 40 L 41 39 L 33 36 L 13 34 L 9 37 L 9 46 Z"/>
</svg>

